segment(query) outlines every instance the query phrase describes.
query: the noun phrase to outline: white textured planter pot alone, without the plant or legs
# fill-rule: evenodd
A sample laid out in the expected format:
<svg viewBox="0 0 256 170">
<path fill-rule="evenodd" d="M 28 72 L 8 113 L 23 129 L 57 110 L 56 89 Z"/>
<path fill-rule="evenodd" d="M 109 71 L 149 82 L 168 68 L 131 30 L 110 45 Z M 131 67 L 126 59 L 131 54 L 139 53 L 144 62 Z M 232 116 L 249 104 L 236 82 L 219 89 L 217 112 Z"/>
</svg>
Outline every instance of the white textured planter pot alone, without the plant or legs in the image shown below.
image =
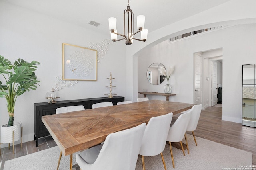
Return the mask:
<svg viewBox="0 0 256 170">
<path fill-rule="evenodd" d="M 13 126 L 1 126 L 1 143 L 12 143 L 12 132 L 14 131 L 14 141 L 22 138 L 21 123 L 13 123 Z M 13 144 L 14 145 L 14 144 Z"/>
</svg>

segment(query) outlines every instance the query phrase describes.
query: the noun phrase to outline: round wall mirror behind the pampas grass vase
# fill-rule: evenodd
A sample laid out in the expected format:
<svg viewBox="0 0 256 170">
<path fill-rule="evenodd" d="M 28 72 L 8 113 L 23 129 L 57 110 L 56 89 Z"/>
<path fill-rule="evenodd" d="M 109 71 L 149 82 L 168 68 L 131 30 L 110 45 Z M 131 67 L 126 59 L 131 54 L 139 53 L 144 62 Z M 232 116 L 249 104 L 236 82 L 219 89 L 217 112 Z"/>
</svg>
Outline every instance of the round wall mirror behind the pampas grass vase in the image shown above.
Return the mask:
<svg viewBox="0 0 256 170">
<path fill-rule="evenodd" d="M 164 65 L 161 63 L 153 63 L 148 67 L 147 78 L 148 82 L 151 84 L 158 85 L 164 81 L 165 76 L 161 75 L 160 71 L 158 70 L 160 67 L 164 67 Z"/>
</svg>

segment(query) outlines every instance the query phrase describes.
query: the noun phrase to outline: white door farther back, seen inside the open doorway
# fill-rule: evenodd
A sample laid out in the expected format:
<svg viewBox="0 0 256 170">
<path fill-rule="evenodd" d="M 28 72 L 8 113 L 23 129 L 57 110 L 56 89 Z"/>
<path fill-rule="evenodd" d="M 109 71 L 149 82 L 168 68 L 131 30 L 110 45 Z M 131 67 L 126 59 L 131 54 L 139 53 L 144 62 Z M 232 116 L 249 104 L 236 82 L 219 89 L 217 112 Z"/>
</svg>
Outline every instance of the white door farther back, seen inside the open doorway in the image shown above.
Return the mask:
<svg viewBox="0 0 256 170">
<path fill-rule="evenodd" d="M 212 61 L 212 106 L 217 104 L 217 62 Z"/>
</svg>

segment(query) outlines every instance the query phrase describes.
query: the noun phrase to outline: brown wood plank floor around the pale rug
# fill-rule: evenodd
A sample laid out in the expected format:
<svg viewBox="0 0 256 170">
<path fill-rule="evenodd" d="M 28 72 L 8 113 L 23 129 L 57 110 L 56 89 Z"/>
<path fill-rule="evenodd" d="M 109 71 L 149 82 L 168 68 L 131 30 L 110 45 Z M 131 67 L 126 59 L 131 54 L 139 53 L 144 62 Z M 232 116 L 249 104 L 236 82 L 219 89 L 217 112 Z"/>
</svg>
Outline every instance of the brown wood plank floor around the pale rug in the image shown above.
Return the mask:
<svg viewBox="0 0 256 170">
<path fill-rule="evenodd" d="M 210 141 L 252 152 L 252 164 L 256 165 L 256 128 L 242 126 L 240 123 L 222 121 L 221 115 L 221 107 L 208 107 L 202 110 L 198 127 L 194 131 L 195 135 Z M 174 115 L 173 121 L 177 117 L 178 115 Z M 191 132 L 187 133 L 192 135 Z M 12 147 L 10 147 L 10 150 L 8 150 L 8 147 L 2 148 L 0 156 L 2 166 L 0 170 L 4 169 L 4 162 L 6 160 L 56 146 L 56 143 L 50 136 L 40 138 L 38 144 L 38 147 L 36 147 L 36 141 L 29 141 L 22 144 L 22 149 L 20 149 L 20 144 L 15 145 L 15 154 L 12 154 Z"/>
</svg>

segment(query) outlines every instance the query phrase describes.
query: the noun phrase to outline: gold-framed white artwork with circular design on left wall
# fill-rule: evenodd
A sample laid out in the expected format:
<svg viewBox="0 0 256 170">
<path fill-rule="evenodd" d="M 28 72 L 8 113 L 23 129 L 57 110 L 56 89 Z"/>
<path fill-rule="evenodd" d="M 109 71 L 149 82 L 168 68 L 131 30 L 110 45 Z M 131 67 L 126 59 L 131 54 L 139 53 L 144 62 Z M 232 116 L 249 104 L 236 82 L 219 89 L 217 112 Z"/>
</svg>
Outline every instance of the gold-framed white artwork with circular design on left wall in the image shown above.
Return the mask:
<svg viewBox="0 0 256 170">
<path fill-rule="evenodd" d="M 62 43 L 62 80 L 97 80 L 97 50 Z"/>
</svg>

